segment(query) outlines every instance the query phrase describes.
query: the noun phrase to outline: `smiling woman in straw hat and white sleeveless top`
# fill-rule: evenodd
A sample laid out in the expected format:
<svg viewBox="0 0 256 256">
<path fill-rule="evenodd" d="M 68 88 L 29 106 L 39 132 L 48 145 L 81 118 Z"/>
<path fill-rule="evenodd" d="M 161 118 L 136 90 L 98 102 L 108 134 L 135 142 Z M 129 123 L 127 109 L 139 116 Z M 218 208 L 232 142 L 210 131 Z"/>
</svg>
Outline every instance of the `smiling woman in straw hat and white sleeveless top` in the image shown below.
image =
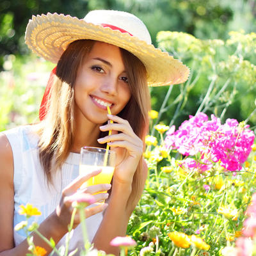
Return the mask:
<svg viewBox="0 0 256 256">
<path fill-rule="evenodd" d="M 40 223 L 38 230 L 58 246 L 65 243 L 72 202 L 111 188 L 100 184 L 77 190 L 100 172 L 77 177 L 80 148 L 106 143 L 117 155 L 111 193 L 93 196 L 96 202 L 109 196 L 108 204 L 84 211 L 90 241 L 118 255 L 109 241 L 125 235 L 147 178 L 142 159 L 150 109 L 147 85 L 182 83 L 189 70 L 155 49 L 143 22 L 125 12 L 98 10 L 84 20 L 38 15 L 29 21 L 26 44 L 57 62 L 56 76 L 44 95 L 42 121 L 0 135 L 0 255 L 28 252 L 26 234 L 13 230 L 23 220 L 19 206 L 27 203 L 42 212 L 32 218 Z M 113 115 L 107 115 L 107 106 Z M 75 225 L 70 250 L 83 246 L 78 216 Z M 37 246 L 51 252 L 33 236 Z"/>
</svg>

